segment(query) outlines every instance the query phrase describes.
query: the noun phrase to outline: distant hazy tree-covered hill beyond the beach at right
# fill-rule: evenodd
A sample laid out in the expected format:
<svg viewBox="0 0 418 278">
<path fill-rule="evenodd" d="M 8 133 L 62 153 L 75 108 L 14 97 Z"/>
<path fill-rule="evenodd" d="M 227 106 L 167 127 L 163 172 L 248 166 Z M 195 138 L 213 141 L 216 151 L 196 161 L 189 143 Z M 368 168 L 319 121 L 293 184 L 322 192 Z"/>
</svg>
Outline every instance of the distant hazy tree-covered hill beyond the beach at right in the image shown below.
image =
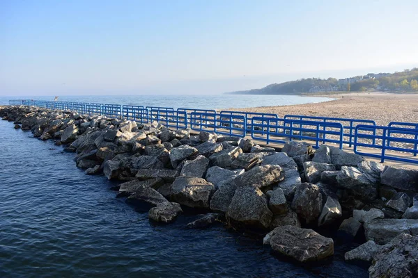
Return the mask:
<svg viewBox="0 0 418 278">
<path fill-rule="evenodd" d="M 418 92 L 418 68 L 394 74 L 366 74 L 346 79 L 299 79 L 270 84 L 261 89 L 227 92 L 229 95 L 298 95 L 309 92 Z"/>
</svg>

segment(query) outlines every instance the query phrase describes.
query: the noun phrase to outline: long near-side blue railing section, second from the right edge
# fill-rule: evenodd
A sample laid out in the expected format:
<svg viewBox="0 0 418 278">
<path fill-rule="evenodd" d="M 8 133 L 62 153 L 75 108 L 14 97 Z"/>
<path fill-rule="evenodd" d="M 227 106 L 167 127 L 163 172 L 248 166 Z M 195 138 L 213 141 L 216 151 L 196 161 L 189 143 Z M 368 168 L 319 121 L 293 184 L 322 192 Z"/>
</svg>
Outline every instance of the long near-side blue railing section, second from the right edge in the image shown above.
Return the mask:
<svg viewBox="0 0 418 278">
<path fill-rule="evenodd" d="M 253 117 L 251 119 L 251 138 L 254 140 L 286 143 L 300 139 L 314 141 L 318 148 L 320 142 L 332 142 L 343 149 L 343 125 L 338 122 L 318 122 L 307 120 L 274 119 Z M 332 138 L 327 136 L 332 136 Z"/>
</svg>

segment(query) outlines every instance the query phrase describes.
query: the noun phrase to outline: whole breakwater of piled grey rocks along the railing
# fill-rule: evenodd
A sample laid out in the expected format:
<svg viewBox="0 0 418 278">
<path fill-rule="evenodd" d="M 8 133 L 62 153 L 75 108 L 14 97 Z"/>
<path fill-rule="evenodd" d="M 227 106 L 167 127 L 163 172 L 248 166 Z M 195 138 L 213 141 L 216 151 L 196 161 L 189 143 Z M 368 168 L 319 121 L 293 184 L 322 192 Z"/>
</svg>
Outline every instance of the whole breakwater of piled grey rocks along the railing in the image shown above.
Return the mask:
<svg viewBox="0 0 418 278">
<path fill-rule="evenodd" d="M 265 235 L 274 254 L 302 262 L 334 254 L 327 236 L 365 238 L 346 261 L 369 263 L 371 277 L 418 273 L 417 170 L 327 145 L 314 152 L 293 141 L 278 152 L 249 139 L 206 131 L 192 136 L 157 122 L 24 106 L 0 108 L 0 116 L 35 138 L 65 145 L 86 174 L 121 181 L 118 197 L 148 207 L 150 220 L 168 223 L 195 209 L 206 215 L 188 228 L 223 222 L 254 231 Z M 396 271 L 382 276 L 390 265 Z"/>
</svg>

